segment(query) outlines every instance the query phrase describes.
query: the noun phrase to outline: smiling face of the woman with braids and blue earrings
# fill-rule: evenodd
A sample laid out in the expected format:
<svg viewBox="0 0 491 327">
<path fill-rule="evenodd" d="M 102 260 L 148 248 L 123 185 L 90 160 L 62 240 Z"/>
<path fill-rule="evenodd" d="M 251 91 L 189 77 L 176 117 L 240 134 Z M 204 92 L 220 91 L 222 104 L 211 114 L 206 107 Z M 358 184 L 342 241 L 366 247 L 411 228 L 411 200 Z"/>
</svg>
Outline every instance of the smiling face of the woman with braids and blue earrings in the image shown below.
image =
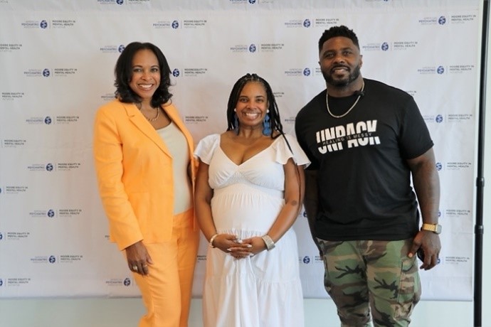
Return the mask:
<svg viewBox="0 0 491 327">
<path fill-rule="evenodd" d="M 236 104 L 236 114 L 242 127 L 263 128 L 263 120 L 268 111 L 268 97 L 263 84 L 248 82 L 244 85 Z"/>
</svg>

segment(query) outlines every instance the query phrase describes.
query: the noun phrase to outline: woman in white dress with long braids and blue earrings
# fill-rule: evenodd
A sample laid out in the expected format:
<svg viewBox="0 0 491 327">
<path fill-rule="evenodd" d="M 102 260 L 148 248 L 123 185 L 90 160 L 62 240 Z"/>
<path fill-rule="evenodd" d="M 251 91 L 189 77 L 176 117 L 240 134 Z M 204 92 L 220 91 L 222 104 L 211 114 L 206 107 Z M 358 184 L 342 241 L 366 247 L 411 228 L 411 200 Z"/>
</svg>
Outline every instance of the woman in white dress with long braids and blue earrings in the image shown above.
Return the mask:
<svg viewBox="0 0 491 327">
<path fill-rule="evenodd" d="M 262 77 L 247 74 L 228 99 L 228 129 L 195 151 L 196 218 L 209 242 L 205 327 L 304 325 L 297 239 L 292 225 L 309 164 L 283 134 L 278 105 Z"/>
</svg>

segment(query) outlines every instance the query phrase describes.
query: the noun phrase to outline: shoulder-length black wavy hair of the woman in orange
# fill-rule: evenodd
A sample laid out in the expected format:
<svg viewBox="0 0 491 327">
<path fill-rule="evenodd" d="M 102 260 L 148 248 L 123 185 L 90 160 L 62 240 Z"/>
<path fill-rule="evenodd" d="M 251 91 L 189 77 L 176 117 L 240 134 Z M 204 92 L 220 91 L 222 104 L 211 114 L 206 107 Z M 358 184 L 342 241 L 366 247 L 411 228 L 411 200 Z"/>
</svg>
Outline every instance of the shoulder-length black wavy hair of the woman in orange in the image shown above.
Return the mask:
<svg viewBox="0 0 491 327">
<path fill-rule="evenodd" d="M 160 85 L 152 96 L 152 107 L 159 107 L 161 104 L 169 102 L 172 97 L 169 92 L 169 87 L 171 86 L 171 68 L 169 68 L 169 63 L 167 63 L 162 50 L 152 43 L 132 42 L 122 50 L 115 66 L 115 96 L 118 100 L 125 103 L 142 102 L 142 99 L 130 87 L 130 81 L 133 75 L 132 61 L 134 54 L 139 50 L 151 50 L 159 62 Z"/>
</svg>

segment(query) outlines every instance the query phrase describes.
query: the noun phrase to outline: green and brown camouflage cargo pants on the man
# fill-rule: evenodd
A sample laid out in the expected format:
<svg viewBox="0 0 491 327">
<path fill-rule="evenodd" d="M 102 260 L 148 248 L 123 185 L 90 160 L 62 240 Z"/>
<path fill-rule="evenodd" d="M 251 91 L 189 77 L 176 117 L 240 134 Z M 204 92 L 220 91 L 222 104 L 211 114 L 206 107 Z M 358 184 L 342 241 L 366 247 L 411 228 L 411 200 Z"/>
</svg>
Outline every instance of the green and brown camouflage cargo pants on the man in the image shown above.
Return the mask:
<svg viewBox="0 0 491 327">
<path fill-rule="evenodd" d="M 408 326 L 421 296 L 412 240 L 325 241 L 324 286 L 343 327 Z"/>
</svg>

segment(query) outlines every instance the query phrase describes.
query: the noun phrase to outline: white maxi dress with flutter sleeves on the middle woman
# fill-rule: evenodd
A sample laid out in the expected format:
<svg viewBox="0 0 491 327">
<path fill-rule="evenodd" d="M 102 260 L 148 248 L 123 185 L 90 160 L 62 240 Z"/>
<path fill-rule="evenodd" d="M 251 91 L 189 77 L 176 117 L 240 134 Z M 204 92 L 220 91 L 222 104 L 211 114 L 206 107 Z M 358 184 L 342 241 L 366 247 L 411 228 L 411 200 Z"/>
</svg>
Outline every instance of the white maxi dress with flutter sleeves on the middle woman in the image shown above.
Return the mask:
<svg viewBox="0 0 491 327">
<path fill-rule="evenodd" d="M 220 135 L 202 139 L 195 156 L 209 165 L 211 211 L 216 231 L 241 239 L 262 236 L 285 204 L 283 165 L 309 164 L 296 139 L 283 136 L 236 165 L 220 147 Z M 205 327 L 304 326 L 297 238 L 290 228 L 270 251 L 235 259 L 208 248 L 203 293 Z"/>
</svg>

